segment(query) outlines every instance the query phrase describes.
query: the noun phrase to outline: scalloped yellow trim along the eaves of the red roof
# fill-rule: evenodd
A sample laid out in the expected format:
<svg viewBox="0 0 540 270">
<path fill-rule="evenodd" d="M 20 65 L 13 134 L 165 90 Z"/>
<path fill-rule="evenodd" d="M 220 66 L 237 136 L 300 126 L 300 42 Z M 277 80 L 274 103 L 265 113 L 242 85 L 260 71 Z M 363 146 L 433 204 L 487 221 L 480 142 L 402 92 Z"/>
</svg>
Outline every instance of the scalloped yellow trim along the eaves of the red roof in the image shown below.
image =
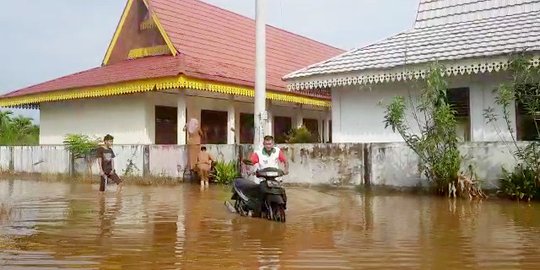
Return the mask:
<svg viewBox="0 0 540 270">
<path fill-rule="evenodd" d="M 189 78 L 186 76 L 165 77 L 158 79 L 135 80 L 105 86 L 92 86 L 78 89 L 59 90 L 50 93 L 34 94 L 21 97 L 0 98 L 0 107 L 31 105 L 41 102 L 53 102 L 70 99 L 96 98 L 123 94 L 141 93 L 165 89 L 194 89 L 237 96 L 253 97 L 252 88 L 216 83 Z M 276 101 L 300 103 L 319 107 L 330 107 L 330 101 L 312 97 L 298 96 L 289 93 L 268 91 L 266 98 Z"/>
</svg>

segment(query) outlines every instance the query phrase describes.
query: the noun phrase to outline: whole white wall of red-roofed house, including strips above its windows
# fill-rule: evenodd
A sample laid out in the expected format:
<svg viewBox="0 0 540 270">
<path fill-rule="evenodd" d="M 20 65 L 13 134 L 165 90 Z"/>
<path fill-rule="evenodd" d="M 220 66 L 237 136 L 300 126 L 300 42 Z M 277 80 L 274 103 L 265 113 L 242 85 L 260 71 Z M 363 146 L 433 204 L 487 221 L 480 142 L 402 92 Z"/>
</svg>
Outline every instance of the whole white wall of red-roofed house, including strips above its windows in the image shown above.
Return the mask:
<svg viewBox="0 0 540 270">
<path fill-rule="evenodd" d="M 155 106 L 178 106 L 178 93 L 113 96 L 43 103 L 40 106 L 40 144 L 62 144 L 69 133 L 103 137 L 111 134 L 116 144 L 152 144 L 155 142 Z M 230 101 L 213 97 L 186 96 L 187 117 L 201 118 L 201 110 L 227 112 Z M 253 102 L 234 101 L 236 130 L 240 130 L 240 113 L 253 113 Z M 326 119 L 328 112 L 304 108 L 302 113 L 295 104 L 271 104 L 272 116 L 288 116 L 292 122 L 298 116 Z M 271 123 L 272 125 L 272 123 Z M 238 138 L 237 138 L 238 141 Z"/>
</svg>

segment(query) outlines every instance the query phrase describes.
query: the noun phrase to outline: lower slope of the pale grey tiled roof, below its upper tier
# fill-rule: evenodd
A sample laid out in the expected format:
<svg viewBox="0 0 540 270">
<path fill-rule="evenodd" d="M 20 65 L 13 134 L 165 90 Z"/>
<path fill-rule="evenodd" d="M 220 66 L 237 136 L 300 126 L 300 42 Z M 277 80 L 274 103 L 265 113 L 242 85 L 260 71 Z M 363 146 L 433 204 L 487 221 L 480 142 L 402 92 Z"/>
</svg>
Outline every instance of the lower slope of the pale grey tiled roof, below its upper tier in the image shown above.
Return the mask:
<svg viewBox="0 0 540 270">
<path fill-rule="evenodd" d="M 286 80 L 333 76 L 347 72 L 397 68 L 433 59 L 462 61 L 497 57 L 510 51 L 540 51 L 540 10 L 527 10 L 452 22 L 412 27 L 367 46 L 287 74 Z M 468 60 L 467 60 L 468 61 Z M 303 81 L 309 81 L 302 79 Z"/>
</svg>

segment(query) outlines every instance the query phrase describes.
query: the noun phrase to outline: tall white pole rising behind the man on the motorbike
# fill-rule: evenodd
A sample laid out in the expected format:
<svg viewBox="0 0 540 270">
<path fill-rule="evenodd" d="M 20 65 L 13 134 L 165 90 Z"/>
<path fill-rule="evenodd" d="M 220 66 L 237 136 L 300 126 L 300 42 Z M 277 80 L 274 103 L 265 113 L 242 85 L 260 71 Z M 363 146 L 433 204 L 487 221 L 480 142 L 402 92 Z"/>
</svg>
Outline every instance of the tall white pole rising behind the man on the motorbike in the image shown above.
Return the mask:
<svg viewBox="0 0 540 270">
<path fill-rule="evenodd" d="M 256 0 L 254 148 L 262 147 L 266 127 L 266 0 Z"/>
</svg>

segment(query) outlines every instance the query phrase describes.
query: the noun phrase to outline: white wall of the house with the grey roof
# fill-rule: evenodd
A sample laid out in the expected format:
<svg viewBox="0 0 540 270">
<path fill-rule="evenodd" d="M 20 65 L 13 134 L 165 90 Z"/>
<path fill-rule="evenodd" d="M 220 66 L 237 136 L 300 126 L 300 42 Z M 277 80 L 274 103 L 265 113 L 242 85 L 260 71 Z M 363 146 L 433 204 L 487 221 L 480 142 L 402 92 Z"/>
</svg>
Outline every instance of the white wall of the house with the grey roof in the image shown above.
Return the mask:
<svg viewBox="0 0 540 270">
<path fill-rule="evenodd" d="M 484 110 L 493 107 L 502 116 L 502 108 L 495 105 L 494 89 L 503 82 L 503 76 L 459 77 L 449 80 L 449 88 L 469 87 L 471 140 L 478 142 L 500 141 L 509 138 L 506 124 L 501 119 L 497 123 L 486 123 Z M 376 143 L 401 142 L 403 139 L 391 128 L 384 127 L 385 107 L 395 96 L 417 96 L 422 89 L 421 82 L 388 83 L 373 86 L 354 86 L 332 89 L 332 137 L 335 143 Z M 408 100 L 408 99 L 407 99 Z M 512 104 L 511 119 L 515 119 Z M 407 122 L 418 130 L 411 113 Z M 512 122 L 514 132 L 515 121 Z"/>
</svg>

